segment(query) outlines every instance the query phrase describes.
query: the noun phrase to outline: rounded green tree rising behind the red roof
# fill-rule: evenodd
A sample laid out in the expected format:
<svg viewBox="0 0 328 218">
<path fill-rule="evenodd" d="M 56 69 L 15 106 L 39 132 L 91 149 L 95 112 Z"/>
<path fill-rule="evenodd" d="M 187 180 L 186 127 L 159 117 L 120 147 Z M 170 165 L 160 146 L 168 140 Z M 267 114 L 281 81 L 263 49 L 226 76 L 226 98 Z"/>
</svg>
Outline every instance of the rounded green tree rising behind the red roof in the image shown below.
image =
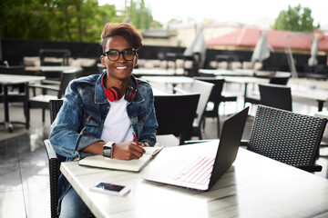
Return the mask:
<svg viewBox="0 0 328 218">
<path fill-rule="evenodd" d="M 313 31 L 317 28 L 313 25 L 312 11 L 308 7 L 288 5 L 287 11 L 281 11 L 275 20 L 272 29 L 289 31 Z M 320 26 L 320 25 L 318 25 Z"/>
</svg>

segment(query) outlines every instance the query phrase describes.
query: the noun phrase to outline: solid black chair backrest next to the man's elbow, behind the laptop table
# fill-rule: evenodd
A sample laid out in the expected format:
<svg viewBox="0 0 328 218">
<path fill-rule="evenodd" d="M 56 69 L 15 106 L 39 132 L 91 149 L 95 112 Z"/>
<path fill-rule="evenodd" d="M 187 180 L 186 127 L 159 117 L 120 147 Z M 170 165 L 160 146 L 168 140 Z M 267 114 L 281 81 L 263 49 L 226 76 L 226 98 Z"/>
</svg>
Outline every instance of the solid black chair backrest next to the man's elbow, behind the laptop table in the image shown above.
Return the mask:
<svg viewBox="0 0 328 218">
<path fill-rule="evenodd" d="M 155 95 L 154 106 L 159 123 L 157 134 L 180 136 L 180 143 L 188 140 L 199 99 L 200 94 Z"/>
</svg>

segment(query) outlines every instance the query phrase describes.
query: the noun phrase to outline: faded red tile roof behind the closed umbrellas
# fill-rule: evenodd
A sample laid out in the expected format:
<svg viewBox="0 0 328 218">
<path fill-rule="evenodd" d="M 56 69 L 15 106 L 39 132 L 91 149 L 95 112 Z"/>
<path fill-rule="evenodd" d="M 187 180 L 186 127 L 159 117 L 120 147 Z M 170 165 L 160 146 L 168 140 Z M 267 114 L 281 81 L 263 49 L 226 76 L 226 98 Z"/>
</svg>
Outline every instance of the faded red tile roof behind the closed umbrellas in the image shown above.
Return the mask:
<svg viewBox="0 0 328 218">
<path fill-rule="evenodd" d="M 242 27 L 228 35 L 222 35 L 206 41 L 207 46 L 241 46 L 255 47 L 261 35 L 261 29 Z M 268 43 L 273 49 L 285 49 L 288 42 L 292 50 L 310 51 L 313 44 L 313 34 L 302 34 L 290 31 L 266 30 Z M 328 35 L 319 40 L 319 51 L 328 52 Z"/>
</svg>

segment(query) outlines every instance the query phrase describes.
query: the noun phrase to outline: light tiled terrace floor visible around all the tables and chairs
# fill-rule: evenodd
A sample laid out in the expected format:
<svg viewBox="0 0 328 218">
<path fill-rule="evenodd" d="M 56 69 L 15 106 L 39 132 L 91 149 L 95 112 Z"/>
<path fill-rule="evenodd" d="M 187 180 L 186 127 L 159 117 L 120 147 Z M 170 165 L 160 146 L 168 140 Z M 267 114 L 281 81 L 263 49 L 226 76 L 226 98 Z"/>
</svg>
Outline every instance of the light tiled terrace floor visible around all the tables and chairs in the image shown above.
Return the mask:
<svg viewBox="0 0 328 218">
<path fill-rule="evenodd" d="M 155 86 L 165 89 L 163 86 Z M 239 94 L 238 103 L 220 105 L 220 121 L 228 114 L 242 109 L 242 89 L 240 85 L 229 85 L 227 91 Z M 327 110 L 327 103 L 323 110 Z M 255 114 L 256 106 L 251 107 Z M 301 114 L 314 114 L 315 104 L 306 102 L 294 103 L 293 111 Z M 0 120 L 4 119 L 3 104 L 0 104 Z M 10 104 L 10 120 L 24 121 L 22 104 Z M 49 178 L 46 149 L 43 140 L 49 133 L 49 113 L 46 113 L 46 123 L 42 124 L 41 110 L 31 110 L 31 127 L 26 131 L 21 124 L 14 125 L 14 132 L 6 132 L 0 125 L 0 218 L 1 217 L 50 217 Z M 248 139 L 253 117 L 249 116 L 243 139 Z M 328 131 L 324 141 L 328 141 Z M 205 139 L 217 138 L 216 121 L 208 118 L 203 132 Z M 197 138 L 195 138 L 197 139 Z M 328 178 L 328 148 L 321 148 L 321 154 L 326 154 L 317 160 L 323 165 L 323 171 L 317 176 Z"/>
</svg>

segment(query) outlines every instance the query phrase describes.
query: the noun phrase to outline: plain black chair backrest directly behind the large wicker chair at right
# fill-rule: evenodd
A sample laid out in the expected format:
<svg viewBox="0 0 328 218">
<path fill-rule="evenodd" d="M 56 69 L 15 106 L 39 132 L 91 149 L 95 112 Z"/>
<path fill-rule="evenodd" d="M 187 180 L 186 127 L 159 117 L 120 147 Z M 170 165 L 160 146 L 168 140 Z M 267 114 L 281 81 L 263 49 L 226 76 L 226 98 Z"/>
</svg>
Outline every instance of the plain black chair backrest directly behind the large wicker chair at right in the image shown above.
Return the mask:
<svg viewBox="0 0 328 218">
<path fill-rule="evenodd" d="M 261 104 L 292 111 L 291 87 L 280 84 L 259 84 Z"/>
</svg>

